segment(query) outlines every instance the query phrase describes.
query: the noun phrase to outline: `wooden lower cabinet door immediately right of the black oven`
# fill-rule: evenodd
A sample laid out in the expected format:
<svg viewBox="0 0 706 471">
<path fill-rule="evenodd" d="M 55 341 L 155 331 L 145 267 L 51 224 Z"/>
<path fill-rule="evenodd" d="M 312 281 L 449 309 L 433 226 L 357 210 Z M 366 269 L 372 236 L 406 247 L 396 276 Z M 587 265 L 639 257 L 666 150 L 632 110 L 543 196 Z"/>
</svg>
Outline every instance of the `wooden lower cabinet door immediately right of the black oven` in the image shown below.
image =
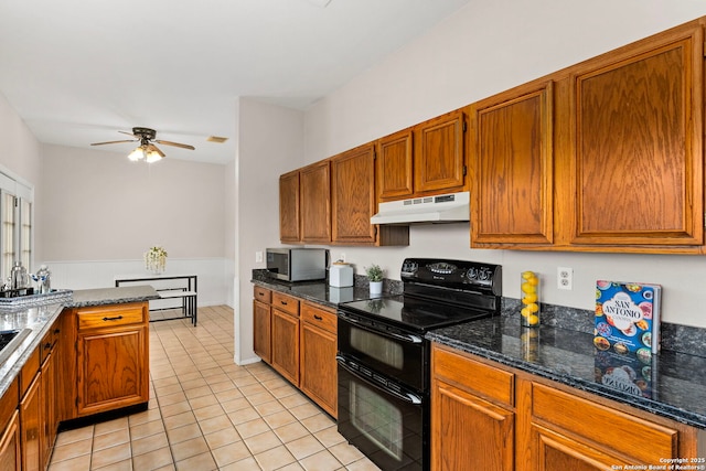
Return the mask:
<svg viewBox="0 0 706 471">
<path fill-rule="evenodd" d="M 511 471 L 514 413 L 435 381 L 431 389 L 431 468 Z M 573 469 L 573 468 L 566 468 Z"/>
</svg>

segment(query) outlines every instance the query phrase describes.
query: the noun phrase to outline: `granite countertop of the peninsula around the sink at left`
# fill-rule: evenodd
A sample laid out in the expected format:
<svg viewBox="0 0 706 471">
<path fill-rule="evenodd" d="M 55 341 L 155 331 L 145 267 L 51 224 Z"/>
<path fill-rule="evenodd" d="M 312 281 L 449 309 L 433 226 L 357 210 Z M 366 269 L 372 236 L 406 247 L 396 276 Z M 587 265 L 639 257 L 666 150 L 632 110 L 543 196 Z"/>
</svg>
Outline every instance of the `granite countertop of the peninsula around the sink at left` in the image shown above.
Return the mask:
<svg viewBox="0 0 706 471">
<path fill-rule="evenodd" d="M 24 363 L 40 344 L 54 321 L 64 308 L 83 308 L 88 306 L 121 304 L 158 299 L 151 286 L 133 286 L 125 288 L 84 289 L 72 292 L 71 298 L 57 299 L 46 303 L 38 300 L 35 304 L 22 309 L 0 311 L 0 330 L 29 330 L 22 341 L 0 364 L 0 396 L 10 387 Z M 6 353 L 6 352 L 3 352 Z"/>
</svg>

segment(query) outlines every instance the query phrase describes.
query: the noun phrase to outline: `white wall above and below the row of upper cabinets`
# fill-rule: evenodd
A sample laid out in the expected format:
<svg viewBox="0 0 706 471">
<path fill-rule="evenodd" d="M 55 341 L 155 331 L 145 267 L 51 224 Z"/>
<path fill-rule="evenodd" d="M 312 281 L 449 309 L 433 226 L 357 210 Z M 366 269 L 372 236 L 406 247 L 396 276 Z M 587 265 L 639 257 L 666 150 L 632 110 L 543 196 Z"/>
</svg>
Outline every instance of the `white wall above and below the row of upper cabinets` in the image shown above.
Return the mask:
<svg viewBox="0 0 706 471">
<path fill-rule="evenodd" d="M 307 163 L 705 14 L 700 0 L 469 2 L 309 110 Z M 405 248 L 332 248 L 340 251 L 359 272 L 376 261 L 395 279 L 407 256 L 498 263 L 503 292 L 514 298 L 518 274 L 533 269 L 544 301 L 581 309 L 593 309 L 596 279 L 659 282 L 665 321 L 706 328 L 704 257 L 478 250 L 469 248 L 468 224 L 413 227 Z M 556 289 L 557 266 L 574 268 L 573 291 Z"/>
</svg>

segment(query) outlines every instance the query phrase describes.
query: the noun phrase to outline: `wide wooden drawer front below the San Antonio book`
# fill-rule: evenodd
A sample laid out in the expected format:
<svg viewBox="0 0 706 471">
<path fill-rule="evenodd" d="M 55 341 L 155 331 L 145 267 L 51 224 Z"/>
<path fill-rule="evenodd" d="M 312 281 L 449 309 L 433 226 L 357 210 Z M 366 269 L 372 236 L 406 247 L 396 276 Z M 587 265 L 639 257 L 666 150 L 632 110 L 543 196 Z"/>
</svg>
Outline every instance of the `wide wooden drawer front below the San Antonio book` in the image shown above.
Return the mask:
<svg viewBox="0 0 706 471">
<path fill-rule="evenodd" d="M 655 457 L 676 457 L 678 451 L 675 429 L 534 383 L 532 420 L 537 419 L 609 448 L 625 443 L 629 432 L 630 454 L 645 463 L 656 462 Z"/>
</svg>

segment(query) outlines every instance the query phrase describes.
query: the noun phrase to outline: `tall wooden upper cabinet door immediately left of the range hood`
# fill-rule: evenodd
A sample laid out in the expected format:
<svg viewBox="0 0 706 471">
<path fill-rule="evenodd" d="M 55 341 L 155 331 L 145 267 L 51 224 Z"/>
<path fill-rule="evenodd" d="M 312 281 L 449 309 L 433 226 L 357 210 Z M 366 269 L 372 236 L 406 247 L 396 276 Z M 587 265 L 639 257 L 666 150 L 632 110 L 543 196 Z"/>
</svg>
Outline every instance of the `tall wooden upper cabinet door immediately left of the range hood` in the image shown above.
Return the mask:
<svg viewBox="0 0 706 471">
<path fill-rule="evenodd" d="M 375 243 L 375 148 L 372 143 L 331 159 L 333 242 Z"/>
</svg>

